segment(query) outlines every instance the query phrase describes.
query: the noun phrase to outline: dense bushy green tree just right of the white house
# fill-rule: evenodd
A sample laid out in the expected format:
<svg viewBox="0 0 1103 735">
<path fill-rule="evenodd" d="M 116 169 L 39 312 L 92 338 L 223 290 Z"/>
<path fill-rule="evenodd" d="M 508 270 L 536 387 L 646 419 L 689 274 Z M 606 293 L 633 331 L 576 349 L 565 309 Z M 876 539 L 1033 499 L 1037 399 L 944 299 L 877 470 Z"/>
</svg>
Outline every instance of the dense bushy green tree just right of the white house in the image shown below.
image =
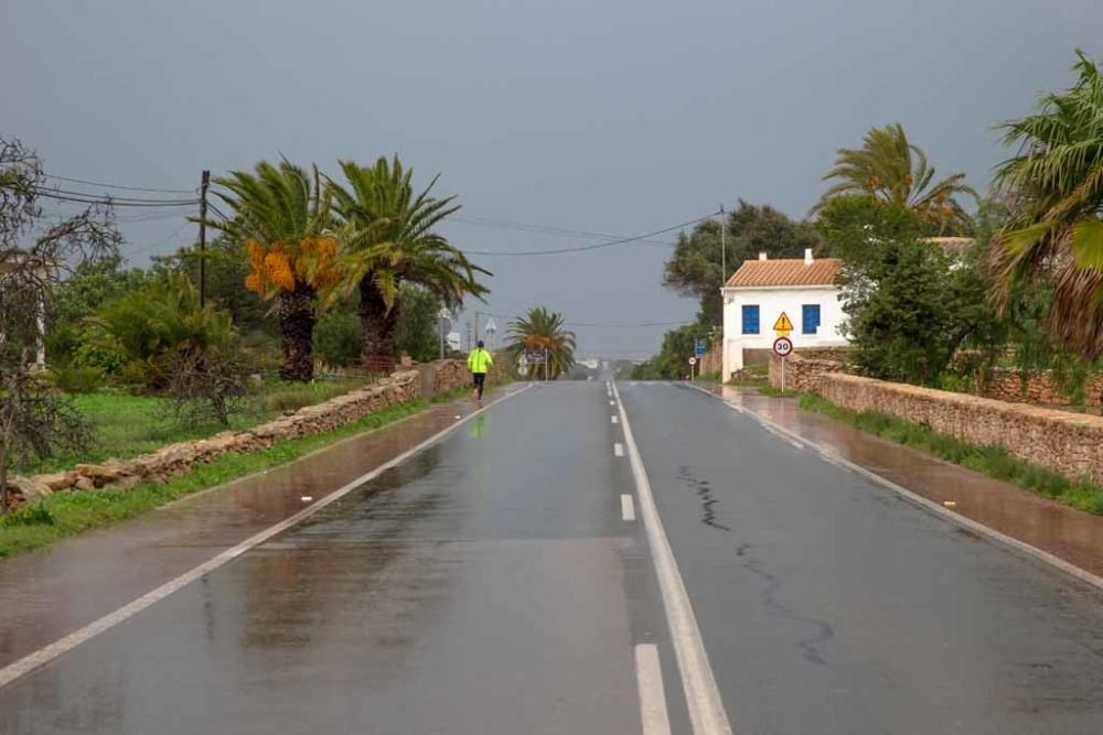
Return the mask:
<svg viewBox="0 0 1103 735">
<path fill-rule="evenodd" d="M 843 259 L 844 331 L 864 374 L 934 383 L 960 347 L 995 328 L 976 258 L 955 260 L 931 244 L 913 210 L 871 196 L 836 197 L 820 227 Z"/>
</svg>

